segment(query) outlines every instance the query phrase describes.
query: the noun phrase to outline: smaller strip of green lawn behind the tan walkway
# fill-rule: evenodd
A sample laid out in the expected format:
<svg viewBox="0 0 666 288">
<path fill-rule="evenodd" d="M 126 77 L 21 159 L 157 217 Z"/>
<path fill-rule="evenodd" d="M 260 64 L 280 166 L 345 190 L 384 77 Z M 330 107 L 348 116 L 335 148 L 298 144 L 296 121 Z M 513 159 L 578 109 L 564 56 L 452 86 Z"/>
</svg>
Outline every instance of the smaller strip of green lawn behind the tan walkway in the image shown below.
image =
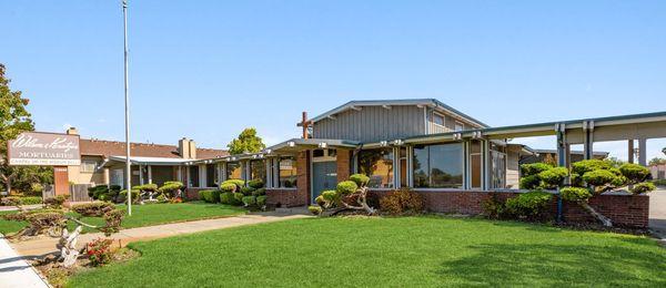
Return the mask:
<svg viewBox="0 0 666 288">
<path fill-rule="evenodd" d="M 119 205 L 118 207 L 127 210 L 125 205 Z M 133 228 L 174 222 L 216 218 L 243 214 L 244 212 L 245 209 L 241 207 L 200 202 L 132 205 L 132 216 L 125 215 L 122 220 L 122 227 Z M 71 213 L 70 215 L 75 214 Z M 101 217 L 83 217 L 82 220 L 91 225 L 104 225 L 104 220 Z M 24 225 L 26 223 L 0 220 L 0 233 L 16 233 L 24 227 Z M 72 227 L 74 227 L 74 224 L 70 223 L 70 229 Z M 83 232 L 94 232 L 94 229 L 84 228 Z"/>
</svg>

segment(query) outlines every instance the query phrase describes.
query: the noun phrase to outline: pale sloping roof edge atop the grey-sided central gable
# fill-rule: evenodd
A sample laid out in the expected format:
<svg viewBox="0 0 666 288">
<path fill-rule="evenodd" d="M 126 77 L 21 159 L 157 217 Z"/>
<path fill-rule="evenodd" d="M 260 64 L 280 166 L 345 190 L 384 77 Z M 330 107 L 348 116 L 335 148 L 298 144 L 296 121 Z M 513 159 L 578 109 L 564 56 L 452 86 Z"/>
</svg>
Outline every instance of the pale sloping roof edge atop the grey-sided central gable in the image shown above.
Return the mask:
<svg viewBox="0 0 666 288">
<path fill-rule="evenodd" d="M 323 114 L 320 114 L 310 121 L 315 123 L 320 120 L 326 119 L 329 116 L 335 115 L 337 113 L 347 111 L 353 109 L 354 106 L 408 106 L 408 105 L 428 105 L 435 107 L 436 110 L 448 112 L 454 116 L 458 116 L 463 120 L 466 120 L 471 123 L 480 125 L 482 127 L 490 127 L 487 124 L 455 110 L 452 106 L 448 106 L 436 99 L 400 99 L 400 100 L 355 100 L 344 103 L 335 109 L 329 110 Z"/>
</svg>

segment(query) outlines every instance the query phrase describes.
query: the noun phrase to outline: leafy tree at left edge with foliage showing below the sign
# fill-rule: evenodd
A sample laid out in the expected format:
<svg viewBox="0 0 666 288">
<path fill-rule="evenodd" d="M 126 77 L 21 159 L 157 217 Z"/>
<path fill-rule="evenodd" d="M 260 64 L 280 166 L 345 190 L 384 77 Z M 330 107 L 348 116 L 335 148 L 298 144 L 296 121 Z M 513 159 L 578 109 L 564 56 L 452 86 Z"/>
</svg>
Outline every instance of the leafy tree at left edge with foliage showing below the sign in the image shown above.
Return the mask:
<svg viewBox="0 0 666 288">
<path fill-rule="evenodd" d="M 52 183 L 53 172 L 50 167 L 9 166 L 7 161 L 7 142 L 26 131 L 33 131 L 34 123 L 26 109 L 28 99 L 21 97 L 21 91 L 9 89 L 10 80 L 4 76 L 4 65 L 0 64 L 0 183 L 7 193 L 12 185 L 29 191 L 33 182 Z"/>
</svg>

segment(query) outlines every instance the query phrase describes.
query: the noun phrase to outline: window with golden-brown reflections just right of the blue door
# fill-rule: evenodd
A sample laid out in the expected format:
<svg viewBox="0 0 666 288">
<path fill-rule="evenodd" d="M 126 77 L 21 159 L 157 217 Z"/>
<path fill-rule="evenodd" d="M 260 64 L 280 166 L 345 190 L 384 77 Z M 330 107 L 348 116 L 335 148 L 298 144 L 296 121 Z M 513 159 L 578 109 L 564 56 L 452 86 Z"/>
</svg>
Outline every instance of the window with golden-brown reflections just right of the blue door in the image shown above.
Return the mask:
<svg viewBox="0 0 666 288">
<path fill-rule="evenodd" d="M 393 148 L 359 152 L 359 173 L 370 177 L 371 188 L 393 188 Z"/>
</svg>

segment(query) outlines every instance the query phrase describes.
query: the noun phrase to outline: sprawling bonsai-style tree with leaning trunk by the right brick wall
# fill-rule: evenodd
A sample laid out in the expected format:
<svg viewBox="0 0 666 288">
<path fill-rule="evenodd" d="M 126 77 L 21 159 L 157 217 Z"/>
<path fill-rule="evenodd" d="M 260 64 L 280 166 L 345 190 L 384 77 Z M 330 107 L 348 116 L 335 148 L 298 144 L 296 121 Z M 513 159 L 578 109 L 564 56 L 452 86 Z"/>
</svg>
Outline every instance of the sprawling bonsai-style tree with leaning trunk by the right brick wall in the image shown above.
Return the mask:
<svg viewBox="0 0 666 288">
<path fill-rule="evenodd" d="M 605 226 L 613 226 L 612 220 L 589 206 L 588 200 L 594 195 L 607 191 L 629 186 L 632 194 L 643 194 L 656 187 L 649 182 L 649 169 L 637 164 L 602 160 L 586 160 L 574 163 L 572 171 L 564 167 L 552 167 L 547 164 L 535 163 L 521 166 L 524 177 L 521 188 L 557 188 L 562 198 L 575 202 L 597 218 Z M 571 177 L 571 185 L 565 185 L 564 179 Z"/>
</svg>

